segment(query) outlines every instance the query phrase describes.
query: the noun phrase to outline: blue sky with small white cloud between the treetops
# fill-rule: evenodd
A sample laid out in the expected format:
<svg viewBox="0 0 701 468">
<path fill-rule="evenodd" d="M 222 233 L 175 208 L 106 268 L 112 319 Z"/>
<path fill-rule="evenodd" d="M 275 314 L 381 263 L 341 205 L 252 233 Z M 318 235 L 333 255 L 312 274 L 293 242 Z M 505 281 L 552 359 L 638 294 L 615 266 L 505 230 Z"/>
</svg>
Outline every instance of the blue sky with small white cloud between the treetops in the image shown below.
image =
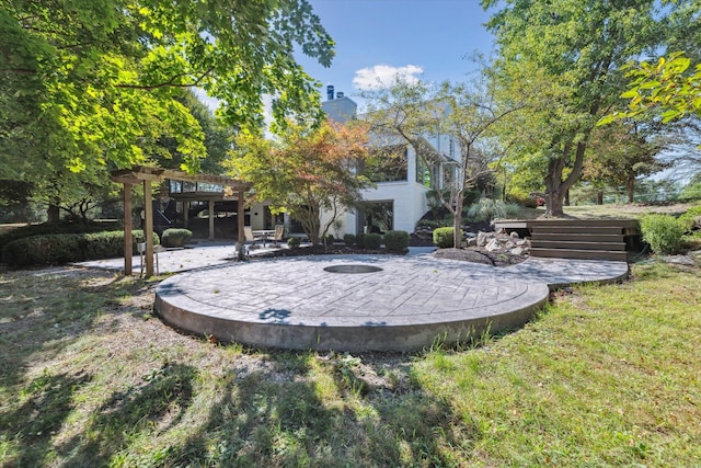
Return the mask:
<svg viewBox="0 0 701 468">
<path fill-rule="evenodd" d="M 299 54 L 307 72 L 356 102 L 378 79 L 462 81 L 478 66 L 475 52 L 489 56 L 493 37 L 484 27 L 490 13 L 479 0 L 310 0 L 336 43 L 330 68 Z"/>
</svg>

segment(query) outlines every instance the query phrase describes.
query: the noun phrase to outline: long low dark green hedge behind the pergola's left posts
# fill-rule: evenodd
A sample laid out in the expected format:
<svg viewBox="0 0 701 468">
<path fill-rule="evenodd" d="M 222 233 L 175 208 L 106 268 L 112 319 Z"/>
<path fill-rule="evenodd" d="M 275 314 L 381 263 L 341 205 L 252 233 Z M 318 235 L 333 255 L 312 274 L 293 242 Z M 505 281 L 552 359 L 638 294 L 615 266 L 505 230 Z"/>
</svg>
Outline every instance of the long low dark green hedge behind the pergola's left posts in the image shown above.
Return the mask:
<svg viewBox="0 0 701 468">
<path fill-rule="evenodd" d="M 143 231 L 131 232 L 134 253 L 143 242 Z M 153 233 L 153 243 L 159 243 Z M 25 237 L 2 248 L 2 262 L 12 266 L 60 265 L 85 260 L 112 259 L 124 255 L 124 231 L 91 233 L 57 233 Z"/>
</svg>

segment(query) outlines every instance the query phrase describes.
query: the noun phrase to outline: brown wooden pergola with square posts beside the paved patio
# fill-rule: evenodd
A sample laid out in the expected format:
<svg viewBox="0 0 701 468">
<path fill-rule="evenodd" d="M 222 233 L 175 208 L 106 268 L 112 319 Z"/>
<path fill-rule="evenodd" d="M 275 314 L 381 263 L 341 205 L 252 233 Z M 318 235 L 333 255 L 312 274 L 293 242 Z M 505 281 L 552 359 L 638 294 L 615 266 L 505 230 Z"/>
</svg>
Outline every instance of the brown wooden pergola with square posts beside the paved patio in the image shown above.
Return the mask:
<svg viewBox="0 0 701 468">
<path fill-rule="evenodd" d="M 248 182 L 238 181 L 220 175 L 188 174 L 182 171 L 174 171 L 163 168 L 151 168 L 146 165 L 135 165 L 131 169 L 123 169 L 113 171 L 111 179 L 114 182 L 124 184 L 124 274 L 131 275 L 131 255 L 134 246 L 131 243 L 131 187 L 134 185 L 143 184 L 143 237 L 146 238 L 146 275 L 153 276 L 153 197 L 151 194 L 151 183 L 161 182 L 165 179 L 183 182 L 204 182 L 208 184 L 221 185 L 230 187 L 237 194 L 237 222 L 238 222 L 238 247 L 245 242 L 243 232 L 243 210 L 244 210 L 244 193 L 251 189 Z M 214 232 L 214 212 L 215 199 L 209 197 L 209 232 L 210 237 Z"/>
</svg>

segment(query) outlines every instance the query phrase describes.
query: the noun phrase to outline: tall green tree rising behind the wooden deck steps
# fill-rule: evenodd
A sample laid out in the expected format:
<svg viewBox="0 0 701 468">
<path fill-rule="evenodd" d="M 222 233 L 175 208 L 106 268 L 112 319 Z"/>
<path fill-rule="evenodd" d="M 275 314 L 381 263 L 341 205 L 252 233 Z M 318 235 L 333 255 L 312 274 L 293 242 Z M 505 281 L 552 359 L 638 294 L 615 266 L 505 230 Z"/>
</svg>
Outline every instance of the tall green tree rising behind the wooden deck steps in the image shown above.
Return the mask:
<svg viewBox="0 0 701 468">
<path fill-rule="evenodd" d="M 666 21 L 682 3 L 659 11 L 654 0 L 482 1 L 498 8 L 489 23 L 498 44 L 492 70 L 497 83 L 517 80 L 527 90 L 535 83 L 528 71 L 547 84 L 542 93 L 528 93 L 531 117 L 512 148 L 516 161 L 541 161 L 549 215 L 562 215 L 597 121 L 620 105 L 619 68 L 665 43 Z"/>
</svg>

